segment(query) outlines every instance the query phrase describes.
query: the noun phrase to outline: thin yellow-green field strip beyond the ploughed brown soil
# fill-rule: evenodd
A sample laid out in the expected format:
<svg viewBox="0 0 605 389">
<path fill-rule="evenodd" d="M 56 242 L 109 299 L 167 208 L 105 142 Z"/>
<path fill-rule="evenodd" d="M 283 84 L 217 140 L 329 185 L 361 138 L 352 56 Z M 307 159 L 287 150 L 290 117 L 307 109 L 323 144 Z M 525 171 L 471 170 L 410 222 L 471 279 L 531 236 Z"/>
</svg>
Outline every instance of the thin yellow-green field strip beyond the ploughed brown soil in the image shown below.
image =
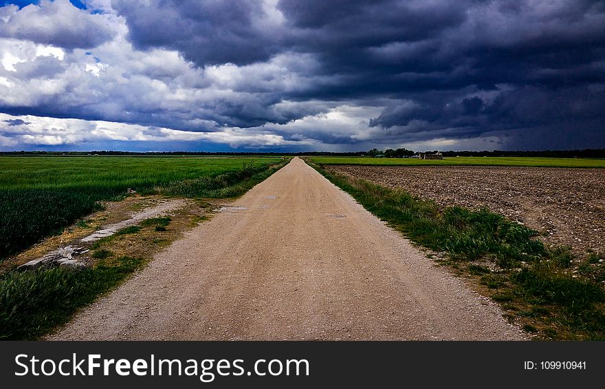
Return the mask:
<svg viewBox="0 0 605 389">
<path fill-rule="evenodd" d="M 470 166 L 531 166 L 531 167 L 599 167 L 605 168 L 605 159 L 588 158 L 534 158 L 534 157 L 450 157 L 443 160 L 417 158 L 371 157 L 310 157 L 320 165 L 470 165 Z"/>
</svg>

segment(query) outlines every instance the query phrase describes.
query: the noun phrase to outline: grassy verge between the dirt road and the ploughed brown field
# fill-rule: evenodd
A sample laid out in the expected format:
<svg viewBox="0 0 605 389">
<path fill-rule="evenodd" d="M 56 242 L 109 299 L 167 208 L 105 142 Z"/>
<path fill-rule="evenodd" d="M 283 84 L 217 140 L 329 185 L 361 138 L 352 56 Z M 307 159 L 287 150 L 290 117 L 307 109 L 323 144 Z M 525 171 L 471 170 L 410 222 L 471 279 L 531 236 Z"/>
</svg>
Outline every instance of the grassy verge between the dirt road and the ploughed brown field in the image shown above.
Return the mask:
<svg viewBox="0 0 605 389">
<path fill-rule="evenodd" d="M 441 253 L 439 264 L 474 280 L 538 339 L 605 340 L 602 258 L 589 255 L 574 273 L 569 250 L 546 247 L 536 231 L 487 209 L 443 208 L 312 166 L 412 242 Z"/>
</svg>

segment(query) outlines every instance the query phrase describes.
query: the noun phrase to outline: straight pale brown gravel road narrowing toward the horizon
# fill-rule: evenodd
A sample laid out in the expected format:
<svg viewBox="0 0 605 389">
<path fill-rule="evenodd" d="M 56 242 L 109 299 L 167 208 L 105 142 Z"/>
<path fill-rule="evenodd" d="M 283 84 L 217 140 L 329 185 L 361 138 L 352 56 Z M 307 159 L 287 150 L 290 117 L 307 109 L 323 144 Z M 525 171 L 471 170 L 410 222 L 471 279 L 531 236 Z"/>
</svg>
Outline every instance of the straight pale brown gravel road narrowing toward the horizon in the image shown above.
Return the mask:
<svg viewBox="0 0 605 389">
<path fill-rule="evenodd" d="M 303 160 L 48 339 L 523 339 Z"/>
</svg>

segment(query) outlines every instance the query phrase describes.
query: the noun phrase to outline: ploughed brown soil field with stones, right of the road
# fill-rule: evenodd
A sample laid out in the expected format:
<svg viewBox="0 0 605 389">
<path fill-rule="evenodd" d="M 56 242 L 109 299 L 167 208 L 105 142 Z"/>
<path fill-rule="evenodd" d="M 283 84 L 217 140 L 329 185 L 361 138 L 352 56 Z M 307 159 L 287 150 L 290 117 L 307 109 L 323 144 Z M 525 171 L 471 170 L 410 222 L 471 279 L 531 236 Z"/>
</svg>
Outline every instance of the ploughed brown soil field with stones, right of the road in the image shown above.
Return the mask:
<svg viewBox="0 0 605 389">
<path fill-rule="evenodd" d="M 440 205 L 487 207 L 582 257 L 605 254 L 605 170 L 543 167 L 328 166 Z"/>
</svg>

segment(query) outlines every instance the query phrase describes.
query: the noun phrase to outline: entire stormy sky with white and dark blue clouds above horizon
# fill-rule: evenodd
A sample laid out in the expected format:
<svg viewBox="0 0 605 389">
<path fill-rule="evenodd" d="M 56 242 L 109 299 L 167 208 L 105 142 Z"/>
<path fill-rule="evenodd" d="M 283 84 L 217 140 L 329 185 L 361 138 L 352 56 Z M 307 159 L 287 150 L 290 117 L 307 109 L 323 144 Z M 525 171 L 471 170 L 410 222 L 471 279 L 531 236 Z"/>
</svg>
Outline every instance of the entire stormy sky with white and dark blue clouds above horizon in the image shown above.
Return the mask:
<svg viewBox="0 0 605 389">
<path fill-rule="evenodd" d="M 0 1 L 0 150 L 605 148 L 605 1 Z"/>
</svg>

